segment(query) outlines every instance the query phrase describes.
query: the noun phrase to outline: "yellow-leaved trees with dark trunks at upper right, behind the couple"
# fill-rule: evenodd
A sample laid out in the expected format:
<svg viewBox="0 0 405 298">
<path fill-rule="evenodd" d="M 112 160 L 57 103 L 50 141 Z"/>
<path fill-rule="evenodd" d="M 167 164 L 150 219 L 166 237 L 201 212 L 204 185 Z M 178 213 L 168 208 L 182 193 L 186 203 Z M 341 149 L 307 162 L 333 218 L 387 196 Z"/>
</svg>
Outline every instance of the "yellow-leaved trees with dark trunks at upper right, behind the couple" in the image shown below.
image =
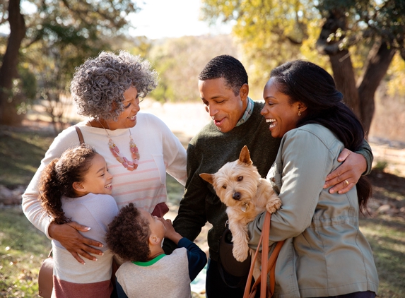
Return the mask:
<svg viewBox="0 0 405 298">
<path fill-rule="evenodd" d="M 405 83 L 404 61 L 387 75 L 394 56 L 405 59 L 404 0 L 203 0 L 202 10 L 211 23 L 234 24 L 254 83 L 292 59 L 329 68 L 366 132 L 381 81 Z"/>
</svg>

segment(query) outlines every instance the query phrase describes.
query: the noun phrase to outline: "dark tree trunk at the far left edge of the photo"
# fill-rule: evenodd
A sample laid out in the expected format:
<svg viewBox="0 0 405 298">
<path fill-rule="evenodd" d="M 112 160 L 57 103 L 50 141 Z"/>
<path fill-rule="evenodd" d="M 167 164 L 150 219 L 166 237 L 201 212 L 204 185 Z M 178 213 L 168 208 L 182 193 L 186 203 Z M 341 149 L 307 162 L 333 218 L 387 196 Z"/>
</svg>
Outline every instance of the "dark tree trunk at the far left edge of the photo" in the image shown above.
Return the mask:
<svg viewBox="0 0 405 298">
<path fill-rule="evenodd" d="M 6 53 L 0 68 L 0 124 L 18 124 L 16 118 L 18 102 L 13 98 L 13 79 L 18 78 L 18 52 L 25 37 L 24 16 L 20 12 L 20 0 L 8 1 L 8 23 L 10 35 L 8 37 Z M 20 120 L 19 120 L 20 121 Z"/>
</svg>

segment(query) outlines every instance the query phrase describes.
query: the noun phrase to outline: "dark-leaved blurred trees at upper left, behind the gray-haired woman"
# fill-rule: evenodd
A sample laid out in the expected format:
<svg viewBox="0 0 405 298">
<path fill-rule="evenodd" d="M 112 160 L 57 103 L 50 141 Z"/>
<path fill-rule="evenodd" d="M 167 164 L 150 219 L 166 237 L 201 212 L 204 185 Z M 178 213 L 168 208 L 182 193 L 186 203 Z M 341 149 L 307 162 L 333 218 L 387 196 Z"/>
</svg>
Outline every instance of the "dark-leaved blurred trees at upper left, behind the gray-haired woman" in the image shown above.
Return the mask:
<svg viewBox="0 0 405 298">
<path fill-rule="evenodd" d="M 109 37 L 125 34 L 127 17 L 136 11 L 131 0 L 0 1 L 0 24 L 10 28 L 0 43 L 0 124 L 20 124 L 35 99 L 47 101 L 58 121 L 52 113 L 74 68 L 110 49 Z"/>
</svg>

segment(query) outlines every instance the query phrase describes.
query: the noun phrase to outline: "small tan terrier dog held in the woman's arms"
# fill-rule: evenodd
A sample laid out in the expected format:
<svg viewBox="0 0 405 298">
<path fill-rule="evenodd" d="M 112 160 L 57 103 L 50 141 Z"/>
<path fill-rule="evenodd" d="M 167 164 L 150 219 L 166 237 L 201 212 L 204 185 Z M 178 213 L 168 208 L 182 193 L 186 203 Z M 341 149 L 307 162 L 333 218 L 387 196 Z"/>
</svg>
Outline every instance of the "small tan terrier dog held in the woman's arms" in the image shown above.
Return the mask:
<svg viewBox="0 0 405 298">
<path fill-rule="evenodd" d="M 226 163 L 215 174 L 202 173 L 200 177 L 213 185 L 217 196 L 227 206 L 233 256 L 237 261 L 245 261 L 249 254 L 247 224 L 265 210 L 276 212 L 281 207 L 280 198 L 270 182 L 260 177 L 247 146 L 240 151 L 239 160 Z"/>
</svg>

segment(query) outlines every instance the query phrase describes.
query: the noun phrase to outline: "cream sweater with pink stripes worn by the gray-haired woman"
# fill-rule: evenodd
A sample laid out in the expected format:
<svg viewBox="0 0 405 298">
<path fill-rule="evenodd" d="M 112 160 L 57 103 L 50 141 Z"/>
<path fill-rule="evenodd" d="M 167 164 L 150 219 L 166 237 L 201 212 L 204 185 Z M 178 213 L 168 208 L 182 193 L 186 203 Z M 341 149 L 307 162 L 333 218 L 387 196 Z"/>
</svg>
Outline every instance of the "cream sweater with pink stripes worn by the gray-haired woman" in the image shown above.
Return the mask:
<svg viewBox="0 0 405 298">
<path fill-rule="evenodd" d="M 85 124 L 86 122 L 81 122 L 77 125 L 83 133 L 85 143 L 93 146 L 107 162 L 109 172 L 113 176 L 112 196 L 117 201 L 118 208 L 133 202 L 136 207 L 144 208 L 151 213 L 155 205 L 166 202 L 166 172 L 181 184 L 185 184 L 186 150 L 168 126 L 153 114 L 139 112 L 136 126 L 131 128 L 132 138 L 139 148 L 140 155 L 139 166 L 132 172 L 124 168 L 110 152 L 106 131 Z M 108 133 L 121 154 L 130 159 L 129 129 L 108 130 Z M 74 126 L 59 133 L 23 194 L 25 216 L 37 229 L 47 234 L 47 237 L 49 237 L 49 217 L 37 201 L 40 175 L 51 160 L 59 157 L 66 149 L 78 145 L 78 135 Z"/>
</svg>

